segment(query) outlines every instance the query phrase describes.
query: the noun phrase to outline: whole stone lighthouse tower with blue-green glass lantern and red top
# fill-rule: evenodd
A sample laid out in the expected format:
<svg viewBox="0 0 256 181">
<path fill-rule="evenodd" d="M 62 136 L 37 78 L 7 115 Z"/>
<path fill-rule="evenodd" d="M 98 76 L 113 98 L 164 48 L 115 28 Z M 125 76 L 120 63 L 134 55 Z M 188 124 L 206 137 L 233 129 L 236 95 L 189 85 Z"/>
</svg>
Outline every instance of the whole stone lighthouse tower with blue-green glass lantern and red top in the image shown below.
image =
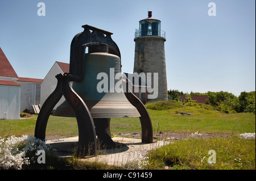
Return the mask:
<svg viewBox="0 0 256 181">
<path fill-rule="evenodd" d="M 148 11 L 148 18 L 139 21 L 139 29 L 135 31 L 134 41 L 134 73 L 151 73 L 151 82 L 148 85 L 151 85 L 151 87 L 158 85 L 158 96 L 148 100 L 168 100 L 164 53 L 166 33 L 161 30 L 161 21 L 152 18 L 152 11 Z M 158 84 L 153 82 L 153 80 L 157 80 L 153 78 L 154 73 L 158 73 Z M 156 90 L 156 87 L 154 87 L 154 90 Z"/>
</svg>

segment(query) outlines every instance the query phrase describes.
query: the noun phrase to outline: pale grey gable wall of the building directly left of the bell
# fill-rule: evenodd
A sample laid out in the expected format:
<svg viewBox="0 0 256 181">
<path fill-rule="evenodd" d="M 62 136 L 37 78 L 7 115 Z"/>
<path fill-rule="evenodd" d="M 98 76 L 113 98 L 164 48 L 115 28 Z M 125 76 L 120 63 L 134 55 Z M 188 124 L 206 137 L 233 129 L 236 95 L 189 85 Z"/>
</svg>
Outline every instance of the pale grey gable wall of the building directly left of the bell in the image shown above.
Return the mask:
<svg viewBox="0 0 256 181">
<path fill-rule="evenodd" d="M 48 74 L 41 83 L 41 106 L 43 106 L 43 103 L 46 101 L 48 96 L 51 95 L 51 93 L 55 90 L 57 86 L 57 79 L 55 78 L 55 76 L 60 73 L 63 74 L 64 72 L 60 69 L 60 66 L 57 65 L 57 63 L 55 62 L 55 64 L 52 66 L 51 70 L 49 70 Z M 64 100 L 65 98 L 64 96 L 62 96 L 59 103 L 56 104 L 53 110 L 60 106 L 60 104 L 63 103 Z"/>
</svg>

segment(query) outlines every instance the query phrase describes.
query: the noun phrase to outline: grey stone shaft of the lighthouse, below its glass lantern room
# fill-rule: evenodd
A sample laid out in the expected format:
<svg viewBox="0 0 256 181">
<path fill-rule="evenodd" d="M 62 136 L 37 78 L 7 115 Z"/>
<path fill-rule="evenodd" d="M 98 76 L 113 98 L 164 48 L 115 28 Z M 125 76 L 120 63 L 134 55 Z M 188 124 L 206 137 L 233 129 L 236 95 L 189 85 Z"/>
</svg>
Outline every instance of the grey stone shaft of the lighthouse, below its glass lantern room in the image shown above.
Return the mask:
<svg viewBox="0 0 256 181">
<path fill-rule="evenodd" d="M 166 58 L 164 52 L 164 41 L 159 36 L 142 36 L 134 39 L 135 56 L 134 72 L 158 73 L 158 98 L 154 100 L 168 100 Z M 153 81 L 153 77 L 152 77 Z M 152 87 L 154 83 L 151 83 Z"/>
</svg>

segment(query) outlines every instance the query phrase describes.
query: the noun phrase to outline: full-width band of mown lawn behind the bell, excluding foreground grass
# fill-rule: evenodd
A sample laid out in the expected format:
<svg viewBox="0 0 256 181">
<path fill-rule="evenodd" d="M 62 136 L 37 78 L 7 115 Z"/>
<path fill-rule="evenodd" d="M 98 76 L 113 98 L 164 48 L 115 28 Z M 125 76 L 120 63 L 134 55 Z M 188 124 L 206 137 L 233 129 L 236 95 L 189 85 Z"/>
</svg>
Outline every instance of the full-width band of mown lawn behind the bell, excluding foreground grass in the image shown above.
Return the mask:
<svg viewBox="0 0 256 181">
<path fill-rule="evenodd" d="M 183 116 L 177 112 L 189 112 L 191 116 Z M 150 110 L 153 131 L 158 132 L 196 132 L 229 134 L 255 133 L 255 115 L 252 113 L 221 113 L 200 107 L 177 106 L 168 110 Z M 0 120 L 0 137 L 34 135 L 38 115 L 28 119 Z M 141 122 L 138 117 L 113 118 L 110 131 L 117 133 L 139 133 Z M 75 117 L 50 116 L 46 135 L 75 136 L 78 134 Z"/>
</svg>

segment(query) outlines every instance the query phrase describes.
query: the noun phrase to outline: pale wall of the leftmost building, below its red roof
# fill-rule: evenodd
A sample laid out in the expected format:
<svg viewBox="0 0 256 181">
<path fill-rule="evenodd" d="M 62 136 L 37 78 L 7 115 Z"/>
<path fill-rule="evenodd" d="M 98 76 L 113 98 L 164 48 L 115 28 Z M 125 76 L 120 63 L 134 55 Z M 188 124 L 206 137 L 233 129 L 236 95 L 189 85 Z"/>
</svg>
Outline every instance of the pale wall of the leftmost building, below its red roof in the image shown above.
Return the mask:
<svg viewBox="0 0 256 181">
<path fill-rule="evenodd" d="M 0 119 L 19 119 L 20 87 L 0 85 Z"/>
</svg>

